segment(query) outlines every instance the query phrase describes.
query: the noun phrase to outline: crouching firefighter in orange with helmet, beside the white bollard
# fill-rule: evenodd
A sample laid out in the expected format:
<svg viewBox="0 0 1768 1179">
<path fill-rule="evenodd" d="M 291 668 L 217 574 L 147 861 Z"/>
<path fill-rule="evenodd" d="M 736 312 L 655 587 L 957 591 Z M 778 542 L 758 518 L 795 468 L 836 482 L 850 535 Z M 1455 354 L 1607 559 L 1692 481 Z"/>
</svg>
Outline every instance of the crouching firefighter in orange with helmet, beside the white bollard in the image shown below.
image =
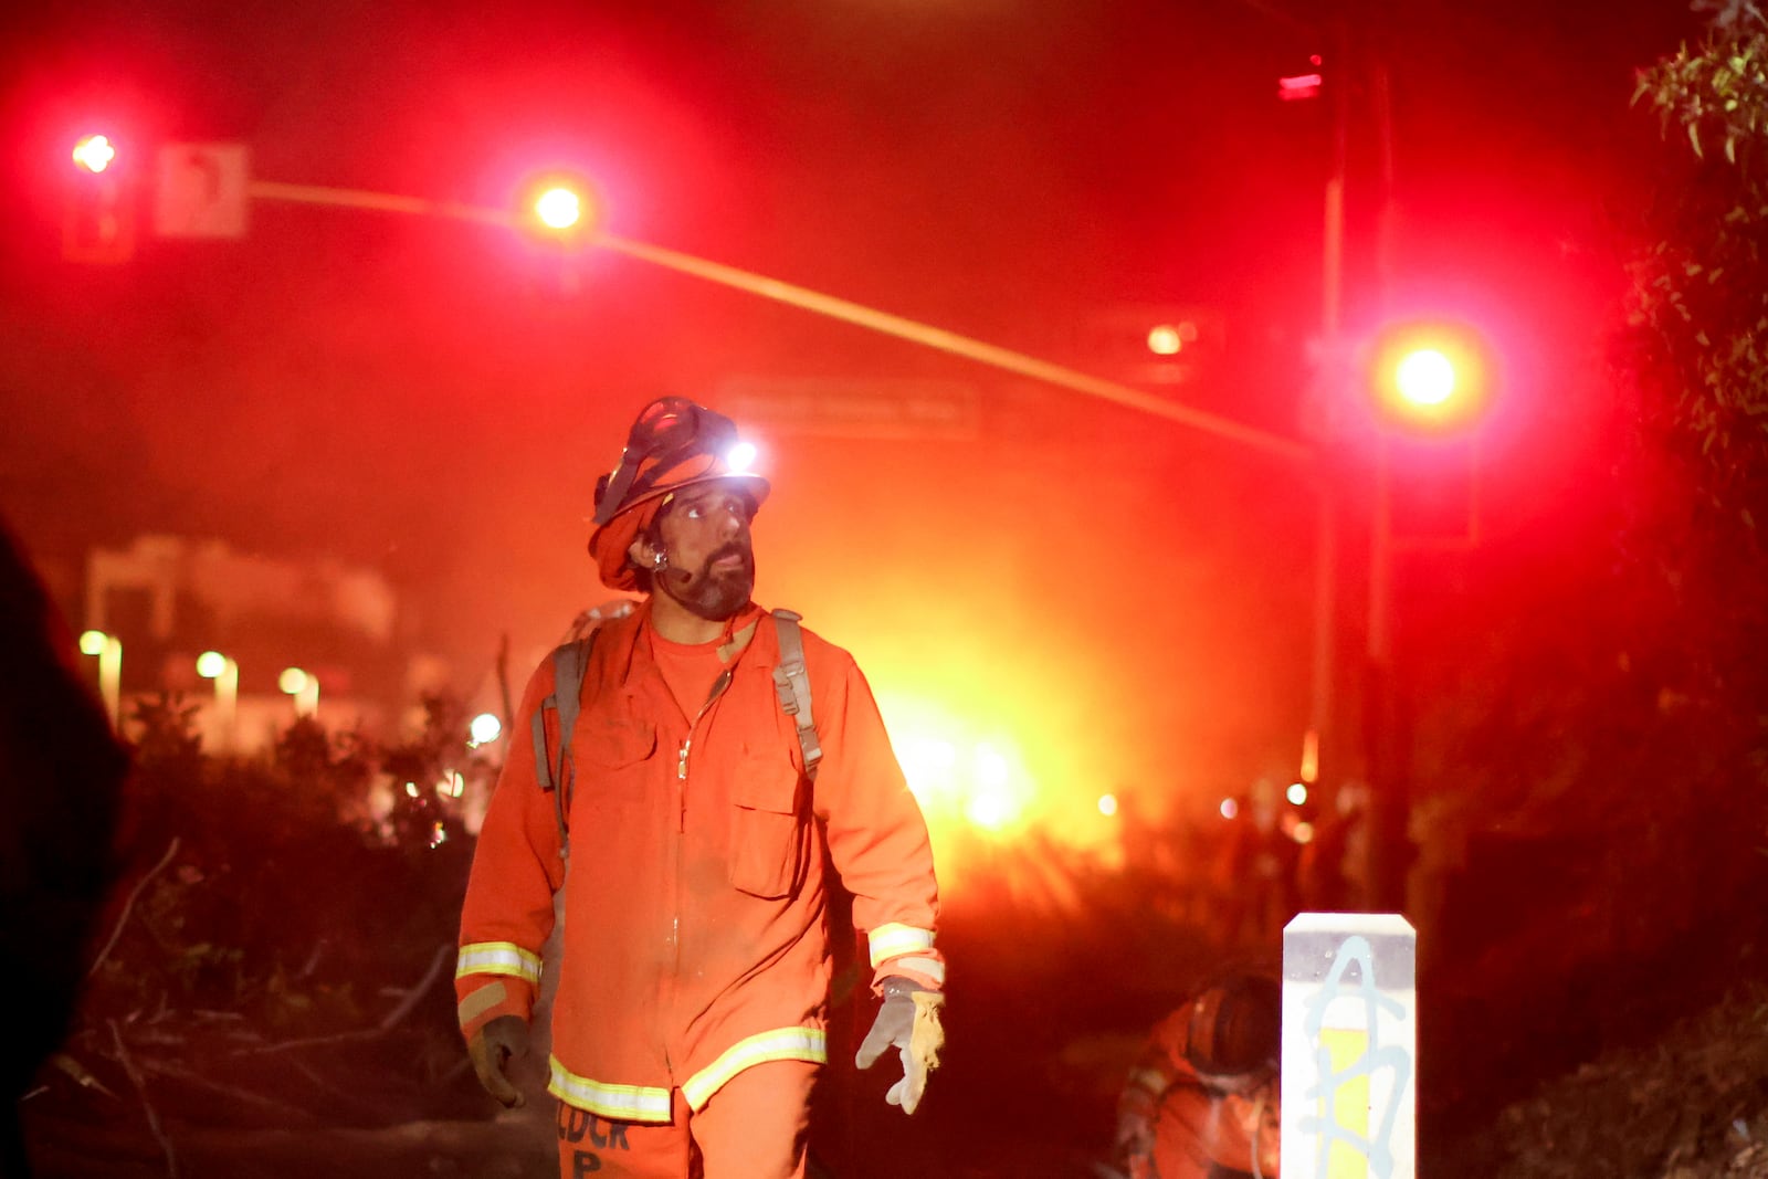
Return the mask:
<svg viewBox="0 0 1768 1179">
<path fill-rule="evenodd" d="M 1276 1179 L 1282 990 L 1232 972 L 1149 1034 L 1117 1099 L 1116 1161 L 1130 1179 Z"/>
</svg>

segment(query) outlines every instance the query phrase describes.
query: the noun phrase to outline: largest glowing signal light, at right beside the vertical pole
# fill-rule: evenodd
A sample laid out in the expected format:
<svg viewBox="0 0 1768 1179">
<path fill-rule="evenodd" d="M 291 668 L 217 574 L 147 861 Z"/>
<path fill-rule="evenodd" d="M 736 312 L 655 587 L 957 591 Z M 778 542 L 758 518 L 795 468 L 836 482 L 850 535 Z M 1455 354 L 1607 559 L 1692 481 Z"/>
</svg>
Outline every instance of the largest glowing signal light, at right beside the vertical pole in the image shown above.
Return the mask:
<svg viewBox="0 0 1768 1179">
<path fill-rule="evenodd" d="M 1377 414 L 1393 426 L 1418 433 L 1466 430 L 1492 394 L 1490 348 L 1466 323 L 1395 323 L 1376 339 L 1368 387 Z"/>
</svg>

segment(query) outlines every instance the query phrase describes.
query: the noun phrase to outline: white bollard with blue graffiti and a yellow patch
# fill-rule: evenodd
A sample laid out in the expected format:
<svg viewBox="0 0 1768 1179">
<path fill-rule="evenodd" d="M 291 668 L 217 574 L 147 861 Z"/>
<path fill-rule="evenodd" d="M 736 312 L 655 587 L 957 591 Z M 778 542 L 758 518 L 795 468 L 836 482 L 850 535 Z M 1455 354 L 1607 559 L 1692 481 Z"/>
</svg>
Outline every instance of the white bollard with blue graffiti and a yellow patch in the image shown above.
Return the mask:
<svg viewBox="0 0 1768 1179">
<path fill-rule="evenodd" d="M 1284 928 L 1284 1179 L 1414 1179 L 1418 932 L 1398 914 Z"/>
</svg>

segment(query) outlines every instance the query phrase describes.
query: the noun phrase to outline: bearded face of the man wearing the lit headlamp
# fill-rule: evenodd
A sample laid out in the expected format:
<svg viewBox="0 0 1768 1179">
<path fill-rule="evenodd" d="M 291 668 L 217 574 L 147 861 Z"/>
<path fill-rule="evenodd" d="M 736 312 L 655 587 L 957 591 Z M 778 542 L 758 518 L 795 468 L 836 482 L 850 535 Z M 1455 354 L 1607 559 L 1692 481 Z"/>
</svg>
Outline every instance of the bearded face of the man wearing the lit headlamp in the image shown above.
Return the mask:
<svg viewBox="0 0 1768 1179">
<path fill-rule="evenodd" d="M 702 483 L 679 491 L 658 527 L 668 564 L 652 587 L 690 613 L 714 622 L 735 615 L 755 590 L 750 520 L 755 502 L 734 483 Z"/>
</svg>

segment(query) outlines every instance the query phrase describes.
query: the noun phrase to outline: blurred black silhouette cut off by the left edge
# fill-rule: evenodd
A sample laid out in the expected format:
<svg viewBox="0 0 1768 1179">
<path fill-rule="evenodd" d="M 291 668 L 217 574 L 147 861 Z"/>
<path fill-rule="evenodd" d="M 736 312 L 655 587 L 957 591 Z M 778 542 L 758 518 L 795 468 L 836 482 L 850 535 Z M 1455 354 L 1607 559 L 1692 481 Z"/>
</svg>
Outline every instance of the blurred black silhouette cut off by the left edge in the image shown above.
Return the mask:
<svg viewBox="0 0 1768 1179">
<path fill-rule="evenodd" d="M 19 1098 L 67 1034 L 113 880 L 127 757 L 74 663 L 74 638 L 0 523 L 0 977 L 9 1008 L 0 1175 L 30 1174 Z"/>
</svg>

